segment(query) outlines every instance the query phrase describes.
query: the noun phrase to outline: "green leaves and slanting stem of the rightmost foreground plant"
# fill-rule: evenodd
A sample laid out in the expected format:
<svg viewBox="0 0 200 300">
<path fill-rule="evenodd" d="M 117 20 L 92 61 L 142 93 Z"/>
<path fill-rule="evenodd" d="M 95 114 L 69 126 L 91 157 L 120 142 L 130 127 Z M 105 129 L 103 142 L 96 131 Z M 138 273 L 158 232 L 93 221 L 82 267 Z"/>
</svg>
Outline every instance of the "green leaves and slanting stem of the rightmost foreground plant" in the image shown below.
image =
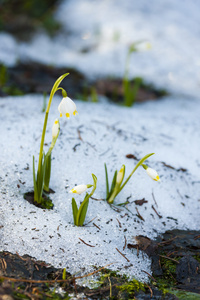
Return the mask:
<svg viewBox="0 0 200 300">
<path fill-rule="evenodd" d="M 149 158 L 154 153 L 150 153 L 145 155 L 135 166 L 131 174 L 127 177 L 127 179 L 123 182 L 124 175 L 125 175 L 125 166 L 123 165 L 121 170 L 123 170 L 123 177 L 121 178 L 120 182 L 117 182 L 117 170 L 114 172 L 112 184 L 109 187 L 109 180 L 108 180 L 108 171 L 107 166 L 105 164 L 105 177 L 106 177 L 106 200 L 108 203 L 112 204 L 116 198 L 116 196 L 121 192 L 127 182 L 130 180 L 131 176 L 135 173 L 137 168 L 143 164 L 143 162 Z"/>
</svg>

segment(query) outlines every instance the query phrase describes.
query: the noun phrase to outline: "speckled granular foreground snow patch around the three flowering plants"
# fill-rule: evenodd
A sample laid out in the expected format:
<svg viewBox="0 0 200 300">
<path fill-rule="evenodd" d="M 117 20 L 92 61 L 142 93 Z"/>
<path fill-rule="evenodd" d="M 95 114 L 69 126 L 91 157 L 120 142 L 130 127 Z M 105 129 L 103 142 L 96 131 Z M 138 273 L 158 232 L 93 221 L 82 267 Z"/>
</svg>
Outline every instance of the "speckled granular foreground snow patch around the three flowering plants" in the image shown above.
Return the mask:
<svg viewBox="0 0 200 300">
<path fill-rule="evenodd" d="M 52 102 L 48 143 L 60 100 L 56 96 Z M 193 98 L 170 97 L 133 108 L 105 102 L 76 101 L 76 104 L 79 114 L 69 120 L 61 119 L 61 133 L 53 150 L 50 185 L 56 191 L 51 195 L 55 207 L 42 210 L 29 204 L 23 195 L 33 187 L 32 155 L 37 157 L 39 152 L 43 97 L 0 99 L 0 250 L 29 254 L 56 267 L 66 267 L 72 274 L 114 263 L 109 268 L 147 281 L 142 270 L 151 273 L 150 260 L 142 253 L 137 257 L 136 250 L 123 249 L 125 240 L 135 243 L 136 235 L 155 238 L 169 229 L 199 229 L 200 226 L 200 159 L 197 156 L 200 103 Z M 158 171 L 160 183 L 149 178 L 141 167 L 116 198 L 115 204 L 128 198 L 130 203 L 126 207 L 117 207 L 121 209 L 117 212 L 106 201 L 91 199 L 86 226 L 73 225 L 69 190 L 75 184 L 92 183 L 91 173 L 94 173 L 98 178 L 94 197 L 103 199 L 105 162 L 110 179 L 122 164 L 126 165 L 128 176 L 136 161 L 126 158 L 126 154 L 142 158 L 151 152 L 156 154 L 147 164 Z M 187 171 L 165 167 L 162 162 Z M 138 206 L 145 221 L 138 218 L 134 202 L 142 198 L 148 201 Z M 83 195 L 76 196 L 79 203 L 82 199 Z"/>
</svg>

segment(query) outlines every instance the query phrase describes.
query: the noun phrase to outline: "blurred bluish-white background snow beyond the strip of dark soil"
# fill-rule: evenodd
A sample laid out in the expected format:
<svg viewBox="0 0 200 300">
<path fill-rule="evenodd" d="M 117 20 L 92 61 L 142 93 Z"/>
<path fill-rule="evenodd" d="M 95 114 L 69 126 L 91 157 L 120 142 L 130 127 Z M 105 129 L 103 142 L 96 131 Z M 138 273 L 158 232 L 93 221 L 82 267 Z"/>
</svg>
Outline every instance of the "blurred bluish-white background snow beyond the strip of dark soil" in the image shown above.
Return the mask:
<svg viewBox="0 0 200 300">
<path fill-rule="evenodd" d="M 0 33 L 0 61 L 34 60 L 73 66 L 88 77 L 123 76 L 128 47 L 150 42 L 134 53 L 130 76 L 142 76 L 176 93 L 199 94 L 200 1 L 64 0 L 55 13 L 63 31 L 51 39 L 37 33 L 31 42 Z M 145 43 L 139 48 L 145 48 Z M 142 49 L 140 49 L 142 50 Z"/>
</svg>

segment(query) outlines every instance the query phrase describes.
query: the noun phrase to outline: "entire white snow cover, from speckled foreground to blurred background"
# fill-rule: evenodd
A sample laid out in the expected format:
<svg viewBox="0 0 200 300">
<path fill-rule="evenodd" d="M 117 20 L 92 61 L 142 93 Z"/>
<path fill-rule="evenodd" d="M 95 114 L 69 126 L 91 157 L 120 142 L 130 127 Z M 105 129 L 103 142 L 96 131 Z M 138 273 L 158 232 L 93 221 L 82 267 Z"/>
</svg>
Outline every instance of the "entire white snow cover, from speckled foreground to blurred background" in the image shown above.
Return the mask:
<svg viewBox="0 0 200 300">
<path fill-rule="evenodd" d="M 29 254 L 76 275 L 112 263 L 110 269 L 148 281 L 143 270 L 151 273 L 149 258 L 123 249 L 125 240 L 135 243 L 136 235 L 154 239 L 174 228 L 199 229 L 199 6 L 195 0 L 184 0 L 181 5 L 172 0 L 68 0 L 56 12 L 64 31 L 54 39 L 40 32 L 30 42 L 20 43 L 0 33 L 0 61 L 6 65 L 36 60 L 74 66 L 90 78 L 122 76 L 129 45 L 148 41 L 151 50 L 142 49 L 143 44 L 140 52 L 133 53 L 130 75 L 140 75 L 174 93 L 132 108 L 104 99 L 97 104 L 76 100 L 79 114 L 61 120 L 52 153 L 50 186 L 56 193 L 51 195 L 54 209 L 50 211 L 23 198 L 33 189 L 32 156 L 38 159 L 43 97 L 1 98 L 0 250 Z M 86 48 L 88 52 L 83 51 Z M 48 144 L 60 100 L 56 96 L 52 102 Z M 140 159 L 151 152 L 155 155 L 147 164 L 158 172 L 161 182 L 139 168 L 115 201 L 128 199 L 128 205 L 115 207 L 103 201 L 104 163 L 111 181 L 122 164 L 126 165 L 125 177 L 136 165 L 127 154 Z M 75 227 L 69 190 L 75 184 L 92 183 L 92 173 L 98 178 L 94 197 L 99 201 L 90 199 L 86 225 Z M 76 201 L 80 203 L 83 197 L 77 195 Z M 134 202 L 142 198 L 148 203 L 137 208 L 145 221 L 138 218 Z"/>
</svg>

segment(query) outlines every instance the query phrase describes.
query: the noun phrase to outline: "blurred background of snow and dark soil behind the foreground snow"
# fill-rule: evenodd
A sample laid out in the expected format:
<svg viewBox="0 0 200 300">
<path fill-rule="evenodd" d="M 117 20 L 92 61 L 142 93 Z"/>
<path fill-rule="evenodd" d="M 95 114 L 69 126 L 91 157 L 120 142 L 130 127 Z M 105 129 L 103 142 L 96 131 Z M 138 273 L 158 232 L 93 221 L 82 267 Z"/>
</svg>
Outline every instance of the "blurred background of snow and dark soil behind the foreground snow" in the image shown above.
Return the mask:
<svg viewBox="0 0 200 300">
<path fill-rule="evenodd" d="M 200 2 L 0 0 L 0 95 L 49 93 L 131 106 L 198 96 Z"/>
</svg>

